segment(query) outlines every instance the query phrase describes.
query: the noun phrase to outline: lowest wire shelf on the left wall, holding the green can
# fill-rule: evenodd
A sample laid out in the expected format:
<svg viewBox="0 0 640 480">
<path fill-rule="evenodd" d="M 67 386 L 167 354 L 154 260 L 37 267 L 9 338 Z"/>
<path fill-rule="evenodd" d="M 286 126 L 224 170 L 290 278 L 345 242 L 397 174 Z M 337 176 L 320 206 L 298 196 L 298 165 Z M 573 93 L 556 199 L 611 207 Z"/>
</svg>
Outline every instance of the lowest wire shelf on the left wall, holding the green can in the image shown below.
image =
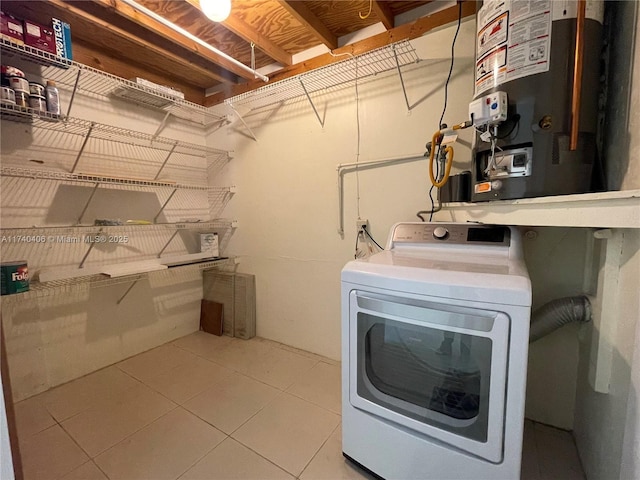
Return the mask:
<svg viewBox="0 0 640 480">
<path fill-rule="evenodd" d="M 223 268 L 235 264 L 235 260 L 230 257 L 220 257 L 214 260 L 191 263 L 188 265 L 179 265 L 169 267 L 164 270 L 158 270 L 148 273 L 136 273 L 133 275 L 125 275 L 122 277 L 109 277 L 107 275 L 89 275 L 86 277 L 75 277 L 64 280 L 52 280 L 49 282 L 31 281 L 29 283 L 29 291 L 16 293 L 13 295 L 3 295 L 2 302 L 24 302 L 37 298 L 48 297 L 51 295 L 70 292 L 78 289 L 89 289 L 98 287 L 108 287 L 112 285 L 137 282 L 144 280 L 155 274 L 162 274 L 172 270 L 188 271 L 188 270 L 209 270 L 214 268 Z"/>
</svg>

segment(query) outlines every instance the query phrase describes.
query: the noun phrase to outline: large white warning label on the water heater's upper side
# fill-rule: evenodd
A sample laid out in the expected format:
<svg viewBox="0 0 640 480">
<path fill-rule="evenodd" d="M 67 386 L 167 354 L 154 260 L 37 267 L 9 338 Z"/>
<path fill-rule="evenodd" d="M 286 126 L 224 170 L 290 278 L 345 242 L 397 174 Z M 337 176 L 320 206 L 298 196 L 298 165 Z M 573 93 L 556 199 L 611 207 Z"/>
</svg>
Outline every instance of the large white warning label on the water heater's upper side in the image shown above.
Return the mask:
<svg viewBox="0 0 640 480">
<path fill-rule="evenodd" d="M 485 0 L 478 11 L 475 96 L 549 70 L 551 0 Z"/>
</svg>

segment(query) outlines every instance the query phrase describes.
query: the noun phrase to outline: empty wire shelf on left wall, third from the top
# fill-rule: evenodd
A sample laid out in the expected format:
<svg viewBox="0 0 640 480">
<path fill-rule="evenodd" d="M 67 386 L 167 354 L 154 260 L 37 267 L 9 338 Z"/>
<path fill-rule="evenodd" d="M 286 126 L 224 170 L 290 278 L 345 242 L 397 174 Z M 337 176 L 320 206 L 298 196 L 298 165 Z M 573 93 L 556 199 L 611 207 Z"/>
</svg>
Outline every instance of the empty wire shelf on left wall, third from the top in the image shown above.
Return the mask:
<svg viewBox="0 0 640 480">
<path fill-rule="evenodd" d="M 209 187 L 203 185 L 188 185 L 161 180 L 143 180 L 123 177 L 107 177 L 94 174 L 69 173 L 55 170 L 36 170 L 22 167 L 6 166 L 0 168 L 0 176 L 19 177 L 42 180 L 57 180 L 62 182 L 99 183 L 108 185 L 128 185 L 135 187 L 164 187 L 180 190 L 201 190 L 209 192 L 209 196 L 226 196 L 235 192 L 235 187 Z"/>
</svg>

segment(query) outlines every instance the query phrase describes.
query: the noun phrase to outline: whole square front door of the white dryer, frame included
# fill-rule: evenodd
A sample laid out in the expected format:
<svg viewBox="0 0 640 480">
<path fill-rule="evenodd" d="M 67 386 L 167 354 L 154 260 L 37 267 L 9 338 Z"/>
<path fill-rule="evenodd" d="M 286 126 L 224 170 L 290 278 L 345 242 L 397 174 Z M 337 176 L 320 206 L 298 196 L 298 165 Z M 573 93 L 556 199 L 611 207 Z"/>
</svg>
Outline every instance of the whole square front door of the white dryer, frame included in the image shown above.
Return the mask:
<svg viewBox="0 0 640 480">
<path fill-rule="evenodd" d="M 502 460 L 507 315 L 352 291 L 349 323 L 354 407 Z"/>
</svg>

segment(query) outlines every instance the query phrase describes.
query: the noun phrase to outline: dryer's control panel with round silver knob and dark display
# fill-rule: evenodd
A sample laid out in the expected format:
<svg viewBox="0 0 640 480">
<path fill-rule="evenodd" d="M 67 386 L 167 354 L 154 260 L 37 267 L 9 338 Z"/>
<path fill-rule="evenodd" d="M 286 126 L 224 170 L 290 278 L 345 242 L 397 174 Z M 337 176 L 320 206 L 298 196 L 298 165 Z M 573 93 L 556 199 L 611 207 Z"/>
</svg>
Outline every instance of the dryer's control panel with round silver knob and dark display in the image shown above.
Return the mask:
<svg viewBox="0 0 640 480">
<path fill-rule="evenodd" d="M 508 247 L 511 230 L 501 225 L 459 223 L 400 223 L 393 230 L 392 244 L 473 244 Z"/>
</svg>

